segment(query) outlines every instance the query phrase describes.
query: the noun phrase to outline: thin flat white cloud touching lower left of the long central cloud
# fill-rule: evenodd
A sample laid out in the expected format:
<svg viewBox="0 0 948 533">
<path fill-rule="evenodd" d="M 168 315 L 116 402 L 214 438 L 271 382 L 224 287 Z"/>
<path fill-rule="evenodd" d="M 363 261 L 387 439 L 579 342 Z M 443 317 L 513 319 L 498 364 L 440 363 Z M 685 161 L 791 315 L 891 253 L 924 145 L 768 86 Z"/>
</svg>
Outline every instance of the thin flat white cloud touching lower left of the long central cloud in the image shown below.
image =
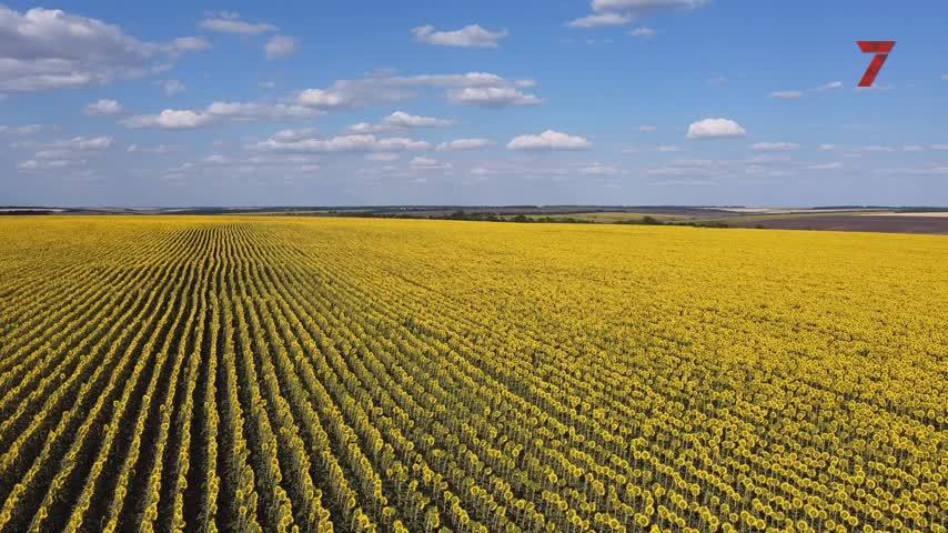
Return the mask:
<svg viewBox="0 0 948 533">
<path fill-rule="evenodd" d="M 128 128 L 190 130 L 220 121 L 265 122 L 306 119 L 317 111 L 301 105 L 263 102 L 213 102 L 202 110 L 165 109 L 158 114 L 138 114 L 121 121 Z"/>
</svg>

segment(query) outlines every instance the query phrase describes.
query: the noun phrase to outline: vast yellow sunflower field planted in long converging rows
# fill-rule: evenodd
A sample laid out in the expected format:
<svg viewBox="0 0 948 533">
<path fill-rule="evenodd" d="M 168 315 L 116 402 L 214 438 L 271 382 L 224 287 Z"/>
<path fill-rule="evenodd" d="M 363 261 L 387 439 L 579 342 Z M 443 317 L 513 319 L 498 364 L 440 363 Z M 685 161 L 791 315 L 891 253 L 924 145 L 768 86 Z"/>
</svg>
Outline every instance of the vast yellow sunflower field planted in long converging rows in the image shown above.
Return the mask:
<svg viewBox="0 0 948 533">
<path fill-rule="evenodd" d="M 0 532 L 948 525 L 948 239 L 0 219 Z"/>
</svg>

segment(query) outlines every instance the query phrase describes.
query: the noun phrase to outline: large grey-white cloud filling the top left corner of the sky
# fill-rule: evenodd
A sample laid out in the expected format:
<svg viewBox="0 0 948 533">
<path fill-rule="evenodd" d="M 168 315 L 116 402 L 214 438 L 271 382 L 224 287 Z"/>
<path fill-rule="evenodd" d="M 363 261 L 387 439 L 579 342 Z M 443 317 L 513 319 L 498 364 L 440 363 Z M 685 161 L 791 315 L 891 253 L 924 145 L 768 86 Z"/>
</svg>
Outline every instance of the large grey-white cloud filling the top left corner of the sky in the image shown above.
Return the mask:
<svg viewBox="0 0 948 533">
<path fill-rule="evenodd" d="M 160 72 L 174 56 L 194 49 L 182 39 L 145 42 L 62 10 L 0 6 L 0 91 L 79 88 Z"/>
</svg>

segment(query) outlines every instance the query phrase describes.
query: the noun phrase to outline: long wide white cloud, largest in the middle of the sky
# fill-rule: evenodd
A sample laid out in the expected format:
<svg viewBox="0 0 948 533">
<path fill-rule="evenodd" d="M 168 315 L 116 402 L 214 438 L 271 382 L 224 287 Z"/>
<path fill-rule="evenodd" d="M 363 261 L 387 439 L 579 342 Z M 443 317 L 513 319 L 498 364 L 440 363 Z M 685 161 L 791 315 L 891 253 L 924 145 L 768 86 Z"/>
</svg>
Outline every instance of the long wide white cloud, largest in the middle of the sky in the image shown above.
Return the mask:
<svg viewBox="0 0 948 533">
<path fill-rule="evenodd" d="M 319 109 L 351 109 L 409 100 L 418 89 L 444 89 L 452 103 L 482 107 L 531 105 L 542 100 L 522 89 L 532 80 L 508 80 L 488 72 L 464 74 L 379 74 L 357 80 L 339 80 L 326 89 L 306 89 L 296 95 L 301 105 Z M 465 89 L 478 91 L 464 92 Z"/>
</svg>

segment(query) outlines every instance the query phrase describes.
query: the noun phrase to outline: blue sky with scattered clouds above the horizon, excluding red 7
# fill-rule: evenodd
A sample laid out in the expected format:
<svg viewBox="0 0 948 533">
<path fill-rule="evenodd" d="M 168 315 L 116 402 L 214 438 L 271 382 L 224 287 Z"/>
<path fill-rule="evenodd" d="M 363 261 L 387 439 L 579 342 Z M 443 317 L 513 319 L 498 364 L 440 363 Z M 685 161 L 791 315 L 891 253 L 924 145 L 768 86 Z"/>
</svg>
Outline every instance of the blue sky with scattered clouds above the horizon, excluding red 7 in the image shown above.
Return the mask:
<svg viewBox="0 0 948 533">
<path fill-rule="evenodd" d="M 948 205 L 948 4 L 0 4 L 0 204 Z M 857 40 L 896 40 L 873 89 Z"/>
</svg>

